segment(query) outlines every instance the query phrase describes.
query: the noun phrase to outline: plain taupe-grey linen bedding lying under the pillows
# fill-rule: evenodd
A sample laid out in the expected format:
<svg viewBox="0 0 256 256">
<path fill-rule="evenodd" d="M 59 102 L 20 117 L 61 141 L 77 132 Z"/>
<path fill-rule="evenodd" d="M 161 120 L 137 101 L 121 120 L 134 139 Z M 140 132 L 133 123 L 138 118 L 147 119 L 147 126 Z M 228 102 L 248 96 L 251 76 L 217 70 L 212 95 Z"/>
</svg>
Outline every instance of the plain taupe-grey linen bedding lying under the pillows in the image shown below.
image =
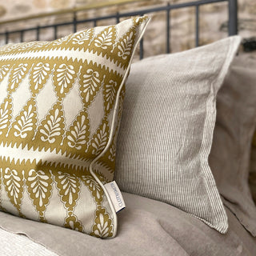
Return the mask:
<svg viewBox="0 0 256 256">
<path fill-rule="evenodd" d="M 34 242 L 62 256 L 256 255 L 256 238 L 242 227 L 228 209 L 230 228 L 227 234 L 219 234 L 174 206 L 133 194 L 123 193 L 123 197 L 126 209 L 118 214 L 118 236 L 110 240 L 2 212 L 0 226 L 10 232 L 26 234 Z M 12 241 L 10 249 L 11 244 Z M 0 241 L 1 255 L 4 250 Z"/>
</svg>

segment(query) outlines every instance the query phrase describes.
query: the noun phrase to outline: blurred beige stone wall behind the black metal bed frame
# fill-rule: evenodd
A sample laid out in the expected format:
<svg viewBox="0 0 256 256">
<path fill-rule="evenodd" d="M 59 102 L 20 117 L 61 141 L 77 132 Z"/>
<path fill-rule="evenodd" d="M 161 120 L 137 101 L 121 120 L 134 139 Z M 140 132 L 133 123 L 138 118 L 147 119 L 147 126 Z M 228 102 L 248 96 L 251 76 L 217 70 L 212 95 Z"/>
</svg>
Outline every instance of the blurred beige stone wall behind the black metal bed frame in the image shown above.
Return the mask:
<svg viewBox="0 0 256 256">
<path fill-rule="evenodd" d="M 22 18 L 28 15 L 42 14 L 55 10 L 61 10 L 74 6 L 86 6 L 92 2 L 102 2 L 102 0 L 0 0 L 0 22 L 11 18 Z M 111 2 L 107 0 L 104 2 Z M 123 6 L 111 6 L 100 10 L 90 10 L 80 12 L 78 18 L 89 18 L 98 15 L 110 14 L 112 12 L 122 12 L 124 10 L 136 10 L 146 8 L 146 6 L 165 5 L 167 2 L 193 2 L 193 0 L 147 0 L 144 2 L 134 2 Z M 200 8 L 200 44 L 213 42 L 219 38 L 226 37 L 227 9 L 226 3 L 218 3 L 202 6 Z M 14 30 L 22 27 L 50 24 L 72 19 L 72 15 L 65 14 L 54 17 L 34 19 L 26 22 L 11 23 L 0 26 L 0 31 Z M 145 55 L 163 54 L 166 51 L 166 13 L 154 15 L 150 26 L 145 35 Z M 112 23 L 105 21 L 104 23 Z M 102 25 L 103 23 L 98 23 Z M 186 50 L 194 47 L 194 26 L 195 16 L 194 8 L 182 10 L 173 10 L 171 12 L 171 40 L 170 48 L 173 52 Z M 238 24 L 239 34 L 243 38 L 256 36 L 256 1 L 255 0 L 238 0 Z M 82 30 L 84 26 L 93 26 L 93 24 L 83 24 L 78 26 Z M 58 37 L 72 32 L 72 27 L 58 30 Z M 41 40 L 52 39 L 52 30 L 43 31 Z M 34 40 L 34 32 L 26 33 L 25 40 Z M 1 40 L 1 39 L 0 39 Z M 10 38 L 13 42 L 18 42 L 18 34 Z M 3 44 L 2 40 L 2 44 Z"/>
</svg>

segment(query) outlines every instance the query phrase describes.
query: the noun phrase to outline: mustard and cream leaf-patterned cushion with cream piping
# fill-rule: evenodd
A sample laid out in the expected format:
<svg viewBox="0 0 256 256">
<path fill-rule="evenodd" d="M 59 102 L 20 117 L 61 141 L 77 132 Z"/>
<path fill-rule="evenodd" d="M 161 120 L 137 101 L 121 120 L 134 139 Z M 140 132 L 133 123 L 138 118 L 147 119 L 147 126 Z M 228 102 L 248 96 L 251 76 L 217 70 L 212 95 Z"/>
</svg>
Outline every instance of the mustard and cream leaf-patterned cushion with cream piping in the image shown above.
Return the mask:
<svg viewBox="0 0 256 256">
<path fill-rule="evenodd" d="M 113 180 L 123 85 L 148 21 L 0 48 L 2 210 L 115 236 L 103 185 Z"/>
</svg>

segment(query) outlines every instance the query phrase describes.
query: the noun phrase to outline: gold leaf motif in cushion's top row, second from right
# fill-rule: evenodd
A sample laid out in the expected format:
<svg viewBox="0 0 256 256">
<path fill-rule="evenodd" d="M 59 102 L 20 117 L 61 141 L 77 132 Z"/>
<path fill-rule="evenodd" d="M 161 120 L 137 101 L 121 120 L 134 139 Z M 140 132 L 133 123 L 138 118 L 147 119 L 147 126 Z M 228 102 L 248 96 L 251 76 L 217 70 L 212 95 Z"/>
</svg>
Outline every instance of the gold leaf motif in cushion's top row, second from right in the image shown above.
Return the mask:
<svg viewBox="0 0 256 256">
<path fill-rule="evenodd" d="M 97 38 L 94 38 L 94 46 L 101 48 L 101 50 L 106 50 L 113 45 L 115 38 L 114 26 L 109 26 Z"/>
</svg>

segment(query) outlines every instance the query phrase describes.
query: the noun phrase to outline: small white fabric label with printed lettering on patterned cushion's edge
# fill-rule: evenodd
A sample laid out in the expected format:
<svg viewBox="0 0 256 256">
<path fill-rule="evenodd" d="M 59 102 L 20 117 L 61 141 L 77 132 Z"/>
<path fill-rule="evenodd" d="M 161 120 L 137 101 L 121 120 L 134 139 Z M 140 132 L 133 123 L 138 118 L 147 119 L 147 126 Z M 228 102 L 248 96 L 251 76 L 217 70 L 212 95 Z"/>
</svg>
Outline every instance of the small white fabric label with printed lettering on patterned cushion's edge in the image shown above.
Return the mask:
<svg viewBox="0 0 256 256">
<path fill-rule="evenodd" d="M 114 205 L 114 210 L 118 213 L 118 211 L 126 208 L 126 204 L 123 201 L 121 191 L 118 188 L 118 185 L 116 182 L 110 182 L 106 183 L 105 188 L 110 195 L 111 201 Z"/>
</svg>

